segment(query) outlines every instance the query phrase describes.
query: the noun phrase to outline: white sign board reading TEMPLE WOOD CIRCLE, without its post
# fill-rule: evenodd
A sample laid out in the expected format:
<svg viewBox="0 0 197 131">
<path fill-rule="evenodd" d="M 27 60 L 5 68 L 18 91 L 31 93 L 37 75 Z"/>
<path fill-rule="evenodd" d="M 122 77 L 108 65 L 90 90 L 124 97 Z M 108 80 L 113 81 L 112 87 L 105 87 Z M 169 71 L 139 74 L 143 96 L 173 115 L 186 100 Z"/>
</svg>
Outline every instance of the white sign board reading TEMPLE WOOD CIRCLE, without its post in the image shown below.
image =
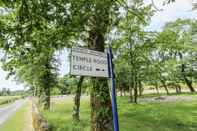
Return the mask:
<svg viewBox="0 0 197 131">
<path fill-rule="evenodd" d="M 71 51 L 71 75 L 108 77 L 107 53 L 74 47 Z"/>
</svg>

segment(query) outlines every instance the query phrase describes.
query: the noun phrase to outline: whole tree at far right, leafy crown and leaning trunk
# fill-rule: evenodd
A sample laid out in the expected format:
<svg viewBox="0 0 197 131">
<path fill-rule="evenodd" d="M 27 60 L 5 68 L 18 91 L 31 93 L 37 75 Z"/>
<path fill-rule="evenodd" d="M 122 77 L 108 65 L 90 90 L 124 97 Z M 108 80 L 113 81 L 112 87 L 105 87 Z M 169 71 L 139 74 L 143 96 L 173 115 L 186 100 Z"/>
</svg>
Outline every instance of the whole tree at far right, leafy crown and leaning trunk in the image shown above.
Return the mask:
<svg viewBox="0 0 197 131">
<path fill-rule="evenodd" d="M 160 56 L 163 57 L 164 61 L 175 61 L 176 70 L 179 72 L 177 77 L 188 86 L 191 92 L 195 92 L 191 73 L 194 68 L 191 65 L 193 63 L 191 63 L 191 59 L 193 58 L 190 56 L 196 52 L 192 35 L 194 23 L 195 21 L 192 20 L 181 19 L 169 22 L 164 27 L 164 30 L 159 33 L 156 40 Z"/>
</svg>

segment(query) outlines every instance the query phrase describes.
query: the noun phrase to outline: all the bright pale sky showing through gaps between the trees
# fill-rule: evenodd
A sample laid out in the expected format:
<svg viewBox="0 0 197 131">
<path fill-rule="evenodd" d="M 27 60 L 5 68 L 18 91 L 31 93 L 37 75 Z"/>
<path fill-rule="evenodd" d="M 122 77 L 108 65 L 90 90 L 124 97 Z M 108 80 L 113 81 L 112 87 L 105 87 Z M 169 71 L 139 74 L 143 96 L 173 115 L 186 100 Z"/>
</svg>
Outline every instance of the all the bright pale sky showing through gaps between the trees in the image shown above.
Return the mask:
<svg viewBox="0 0 197 131">
<path fill-rule="evenodd" d="M 175 21 L 178 18 L 190 18 L 197 19 L 197 11 L 192 11 L 192 0 L 176 0 L 172 4 L 163 6 L 163 0 L 154 0 L 155 6 L 162 11 L 157 11 L 151 18 L 151 23 L 146 30 L 149 31 L 161 31 L 166 22 Z M 146 4 L 150 4 L 151 0 L 145 0 Z M 61 76 L 69 73 L 69 59 L 68 51 L 63 50 L 57 54 L 60 61 L 59 74 Z M 22 84 L 15 82 L 13 79 L 6 80 L 7 72 L 0 69 L 0 90 L 3 87 L 10 90 L 21 90 L 25 87 Z"/>
</svg>

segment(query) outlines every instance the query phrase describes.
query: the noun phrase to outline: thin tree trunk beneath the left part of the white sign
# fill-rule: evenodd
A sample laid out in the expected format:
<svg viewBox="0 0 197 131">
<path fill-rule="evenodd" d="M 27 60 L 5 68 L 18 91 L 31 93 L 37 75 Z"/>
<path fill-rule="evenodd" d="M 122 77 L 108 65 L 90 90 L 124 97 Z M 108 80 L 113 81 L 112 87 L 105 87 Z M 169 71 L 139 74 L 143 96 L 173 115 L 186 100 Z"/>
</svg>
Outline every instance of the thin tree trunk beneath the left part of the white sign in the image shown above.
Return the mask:
<svg viewBox="0 0 197 131">
<path fill-rule="evenodd" d="M 81 99 L 81 87 L 83 83 L 84 77 L 81 76 L 79 82 L 77 84 L 77 90 L 74 98 L 74 107 L 73 107 L 73 120 L 79 121 L 79 110 L 80 110 L 80 99 Z"/>
</svg>

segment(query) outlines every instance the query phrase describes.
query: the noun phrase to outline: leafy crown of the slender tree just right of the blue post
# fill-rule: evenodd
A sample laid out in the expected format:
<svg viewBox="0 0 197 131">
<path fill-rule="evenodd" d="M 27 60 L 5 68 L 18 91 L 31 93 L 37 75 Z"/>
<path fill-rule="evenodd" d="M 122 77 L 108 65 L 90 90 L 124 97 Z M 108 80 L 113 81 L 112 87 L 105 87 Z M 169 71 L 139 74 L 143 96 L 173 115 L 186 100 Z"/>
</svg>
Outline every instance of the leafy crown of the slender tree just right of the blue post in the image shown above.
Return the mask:
<svg viewBox="0 0 197 131">
<path fill-rule="evenodd" d="M 112 33 L 112 47 L 115 51 L 116 79 L 120 90 L 137 88 L 138 83 L 146 77 L 146 67 L 150 63 L 152 34 L 145 32 L 144 27 L 148 25 L 154 11 L 151 5 L 144 5 L 142 0 L 134 1 L 128 5 L 136 9 L 138 15 L 125 9 L 115 33 Z M 117 34 L 117 35 L 116 35 Z"/>
</svg>

